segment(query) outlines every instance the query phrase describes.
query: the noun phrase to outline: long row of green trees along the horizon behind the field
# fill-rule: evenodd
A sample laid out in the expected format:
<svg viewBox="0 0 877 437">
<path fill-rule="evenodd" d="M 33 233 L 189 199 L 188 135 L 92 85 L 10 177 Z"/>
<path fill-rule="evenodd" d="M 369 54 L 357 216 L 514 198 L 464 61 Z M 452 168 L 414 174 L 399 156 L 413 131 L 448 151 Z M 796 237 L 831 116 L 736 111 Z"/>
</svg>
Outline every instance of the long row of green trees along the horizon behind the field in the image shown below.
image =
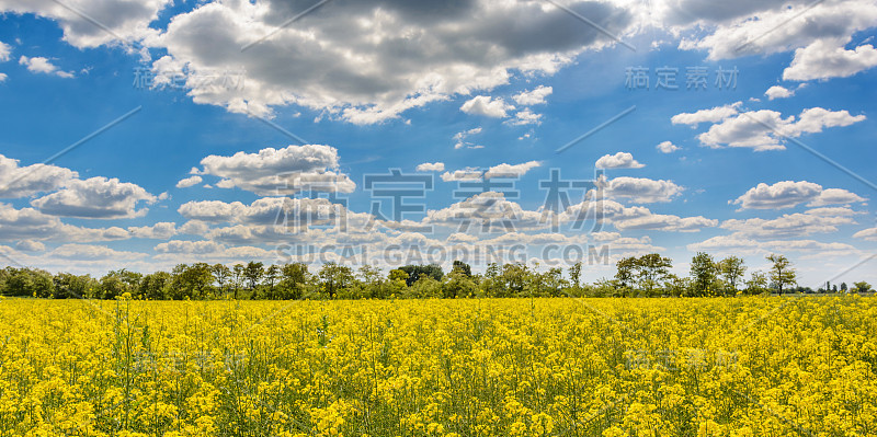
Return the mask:
<svg viewBox="0 0 877 437">
<path fill-rule="evenodd" d="M 179 264 L 171 272 L 140 274 L 111 271 L 95 278 L 69 273 L 50 274 L 30 267 L 0 271 L 3 296 L 36 298 L 114 299 L 125 294 L 135 299 L 415 299 L 471 297 L 719 297 L 770 292 L 838 292 L 838 285 L 813 291 L 797 285 L 797 273 L 783 255 L 767 256 L 770 269 L 753 272 L 745 279 L 742 258 L 716 260 L 698 252 L 688 276 L 671 273 L 669 257 L 651 253 L 618 260 L 615 275 L 586 284 L 582 263 L 540 271 L 523 263 L 489 264 L 481 274 L 455 261 L 451 272 L 440 265 L 406 265 L 381 269 L 365 265 L 354 271 L 334 262 L 310 272 L 304 263 L 264 265 Z M 865 281 L 841 291 L 869 292 Z"/>
</svg>

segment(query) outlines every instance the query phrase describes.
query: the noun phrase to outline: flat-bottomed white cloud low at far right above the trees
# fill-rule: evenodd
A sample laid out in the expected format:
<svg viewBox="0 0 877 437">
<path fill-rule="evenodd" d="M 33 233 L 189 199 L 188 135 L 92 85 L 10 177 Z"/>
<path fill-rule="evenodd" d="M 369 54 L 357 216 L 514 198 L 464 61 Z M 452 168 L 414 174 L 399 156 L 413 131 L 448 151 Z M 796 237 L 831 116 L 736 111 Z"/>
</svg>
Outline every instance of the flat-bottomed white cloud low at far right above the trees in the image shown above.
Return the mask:
<svg viewBox="0 0 877 437">
<path fill-rule="evenodd" d="M 822 185 L 807 181 L 782 181 L 773 185 L 762 182 L 733 200 L 733 204 L 742 209 L 782 209 L 802 203 L 817 207 L 857 202 L 865 199 L 845 189 L 823 189 Z"/>
</svg>

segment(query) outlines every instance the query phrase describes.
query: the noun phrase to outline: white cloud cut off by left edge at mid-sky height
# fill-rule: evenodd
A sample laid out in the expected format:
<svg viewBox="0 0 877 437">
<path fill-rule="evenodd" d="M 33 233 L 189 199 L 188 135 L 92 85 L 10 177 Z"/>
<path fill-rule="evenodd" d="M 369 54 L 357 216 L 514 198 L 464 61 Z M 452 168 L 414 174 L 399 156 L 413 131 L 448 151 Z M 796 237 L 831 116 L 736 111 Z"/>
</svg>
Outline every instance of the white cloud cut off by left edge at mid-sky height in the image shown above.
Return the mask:
<svg viewBox="0 0 877 437">
<path fill-rule="evenodd" d="M 55 165 L 19 166 L 19 160 L 0 154 L 0 197 L 19 198 L 53 192 L 78 177 L 75 171 Z"/>
</svg>

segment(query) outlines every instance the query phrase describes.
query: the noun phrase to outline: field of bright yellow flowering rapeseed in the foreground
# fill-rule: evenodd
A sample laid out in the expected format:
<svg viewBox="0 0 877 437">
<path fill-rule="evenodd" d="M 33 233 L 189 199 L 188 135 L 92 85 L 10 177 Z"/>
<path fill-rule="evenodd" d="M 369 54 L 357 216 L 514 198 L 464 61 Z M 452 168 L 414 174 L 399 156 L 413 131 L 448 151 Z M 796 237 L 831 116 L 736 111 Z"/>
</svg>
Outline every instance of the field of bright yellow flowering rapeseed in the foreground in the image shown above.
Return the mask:
<svg viewBox="0 0 877 437">
<path fill-rule="evenodd" d="M 877 435 L 877 300 L 0 301 L 0 433 Z"/>
</svg>

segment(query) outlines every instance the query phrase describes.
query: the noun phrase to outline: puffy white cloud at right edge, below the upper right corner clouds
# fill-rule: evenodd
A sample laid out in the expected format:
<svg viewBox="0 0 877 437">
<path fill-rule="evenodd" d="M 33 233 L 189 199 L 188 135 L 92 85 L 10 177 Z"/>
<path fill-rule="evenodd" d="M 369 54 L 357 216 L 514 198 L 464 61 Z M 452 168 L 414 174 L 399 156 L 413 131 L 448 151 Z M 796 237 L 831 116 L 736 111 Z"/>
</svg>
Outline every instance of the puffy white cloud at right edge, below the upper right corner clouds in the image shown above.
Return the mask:
<svg viewBox="0 0 877 437">
<path fill-rule="evenodd" d="M 795 50 L 791 65 L 783 70 L 784 80 L 846 78 L 877 66 L 877 49 L 870 44 L 847 50 L 834 42 L 817 41 Z"/>
</svg>

